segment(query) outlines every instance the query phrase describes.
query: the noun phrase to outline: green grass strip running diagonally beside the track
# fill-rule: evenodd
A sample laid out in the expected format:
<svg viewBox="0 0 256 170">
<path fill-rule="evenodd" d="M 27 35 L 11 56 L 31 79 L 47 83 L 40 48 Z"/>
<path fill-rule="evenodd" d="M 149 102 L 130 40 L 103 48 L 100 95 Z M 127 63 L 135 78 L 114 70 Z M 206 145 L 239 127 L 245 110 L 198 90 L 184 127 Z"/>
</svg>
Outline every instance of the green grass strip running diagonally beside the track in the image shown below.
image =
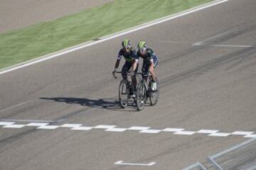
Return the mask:
<svg viewBox="0 0 256 170">
<path fill-rule="evenodd" d="M 116 0 L 0 35 L 0 69 L 213 0 Z"/>
</svg>

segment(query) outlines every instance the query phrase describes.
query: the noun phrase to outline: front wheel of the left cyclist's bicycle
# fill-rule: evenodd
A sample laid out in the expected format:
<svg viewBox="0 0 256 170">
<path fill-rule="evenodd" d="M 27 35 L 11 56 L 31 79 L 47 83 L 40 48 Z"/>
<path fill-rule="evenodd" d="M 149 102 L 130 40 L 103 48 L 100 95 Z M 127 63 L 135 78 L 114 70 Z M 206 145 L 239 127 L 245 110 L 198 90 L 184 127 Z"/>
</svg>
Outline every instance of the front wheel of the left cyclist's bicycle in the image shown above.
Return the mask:
<svg viewBox="0 0 256 170">
<path fill-rule="evenodd" d="M 126 81 L 122 80 L 119 84 L 119 103 L 121 108 L 126 108 L 128 105 L 129 89 L 127 89 Z"/>
</svg>

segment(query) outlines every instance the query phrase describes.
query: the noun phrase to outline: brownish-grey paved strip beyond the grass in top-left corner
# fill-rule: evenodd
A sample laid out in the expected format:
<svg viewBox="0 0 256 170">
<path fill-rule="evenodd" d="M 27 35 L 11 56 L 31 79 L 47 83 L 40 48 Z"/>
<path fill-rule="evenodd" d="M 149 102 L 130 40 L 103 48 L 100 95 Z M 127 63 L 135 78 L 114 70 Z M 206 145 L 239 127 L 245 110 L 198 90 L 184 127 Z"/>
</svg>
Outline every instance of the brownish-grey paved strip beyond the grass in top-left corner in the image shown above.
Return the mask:
<svg viewBox="0 0 256 170">
<path fill-rule="evenodd" d="M 51 21 L 112 0 L 1 0 L 0 33 Z"/>
</svg>

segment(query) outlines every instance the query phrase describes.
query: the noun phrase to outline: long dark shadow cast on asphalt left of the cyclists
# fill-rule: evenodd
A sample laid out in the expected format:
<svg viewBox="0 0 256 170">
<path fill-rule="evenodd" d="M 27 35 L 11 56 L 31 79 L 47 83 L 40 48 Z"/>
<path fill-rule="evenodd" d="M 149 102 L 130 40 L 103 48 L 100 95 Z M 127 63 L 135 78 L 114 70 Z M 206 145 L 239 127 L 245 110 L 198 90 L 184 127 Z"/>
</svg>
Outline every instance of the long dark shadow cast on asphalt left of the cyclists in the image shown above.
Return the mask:
<svg viewBox="0 0 256 170">
<path fill-rule="evenodd" d="M 119 105 L 119 100 L 116 98 L 99 98 L 99 99 L 89 99 L 89 98 L 45 98 L 41 97 L 43 100 L 50 100 L 68 104 L 78 104 L 80 106 L 89 106 L 92 108 L 104 108 L 112 111 L 134 111 L 123 109 Z M 132 105 L 129 105 L 132 106 Z"/>
</svg>

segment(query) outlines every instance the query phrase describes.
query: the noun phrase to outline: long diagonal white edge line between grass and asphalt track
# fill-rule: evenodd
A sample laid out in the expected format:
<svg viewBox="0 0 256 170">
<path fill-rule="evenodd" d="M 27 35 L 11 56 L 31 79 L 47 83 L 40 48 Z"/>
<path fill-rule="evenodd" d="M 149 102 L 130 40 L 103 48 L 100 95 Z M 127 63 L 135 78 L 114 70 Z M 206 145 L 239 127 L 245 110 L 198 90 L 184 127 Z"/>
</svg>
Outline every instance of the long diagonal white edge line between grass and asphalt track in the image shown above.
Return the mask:
<svg viewBox="0 0 256 170">
<path fill-rule="evenodd" d="M 49 55 L 46 55 L 46 56 L 42 56 L 42 57 L 39 57 L 39 58 L 37 58 L 35 60 L 30 60 L 28 62 L 23 62 L 21 64 L 15 65 L 13 67 L 6 68 L 3 71 L 0 71 L 0 74 L 11 72 L 11 71 L 14 71 L 16 69 L 21 69 L 23 67 L 28 67 L 28 66 L 30 66 L 32 64 L 36 64 L 38 62 L 43 62 L 43 61 L 46 61 L 46 60 L 50 60 L 52 58 L 59 57 L 60 55 L 65 55 L 65 54 L 68 54 L 70 52 L 74 52 L 76 50 L 80 50 L 82 48 L 98 44 L 100 42 L 111 40 L 113 38 L 117 38 L 117 37 L 119 37 L 121 35 L 126 35 L 128 33 L 132 33 L 132 32 L 137 31 L 137 30 L 142 30 L 144 28 L 148 28 L 150 26 L 154 26 L 154 25 L 159 24 L 159 23 L 164 23 L 166 21 L 171 21 L 171 20 L 173 20 L 175 18 L 178 18 L 178 17 L 181 17 L 181 16 L 186 16 L 186 15 L 188 15 L 190 13 L 194 13 L 196 11 L 201 11 L 203 9 L 210 8 L 210 7 L 216 6 L 218 4 L 223 4 L 226 1 L 229 1 L 229 0 L 216 0 L 216 1 L 212 1 L 212 2 L 210 2 L 208 4 L 203 4 L 201 6 L 196 6 L 194 8 L 188 9 L 186 11 L 181 11 L 179 13 L 175 13 L 175 14 L 173 14 L 171 16 L 166 16 L 164 18 L 159 18 L 159 19 L 157 19 L 155 21 L 151 21 L 149 23 L 144 23 L 144 24 L 142 24 L 140 26 L 137 26 L 135 28 L 129 28 L 127 30 L 123 30 L 123 31 L 117 32 L 114 35 L 107 35 L 105 37 L 100 38 L 101 40 L 97 40 L 95 42 L 89 41 L 89 42 L 82 43 L 80 45 L 75 45 L 74 47 L 69 47 L 68 49 L 64 49 L 64 50 L 61 50 L 61 51 L 58 51 L 58 52 L 55 52 L 55 53 L 52 53 L 52 54 L 49 54 Z"/>
</svg>

